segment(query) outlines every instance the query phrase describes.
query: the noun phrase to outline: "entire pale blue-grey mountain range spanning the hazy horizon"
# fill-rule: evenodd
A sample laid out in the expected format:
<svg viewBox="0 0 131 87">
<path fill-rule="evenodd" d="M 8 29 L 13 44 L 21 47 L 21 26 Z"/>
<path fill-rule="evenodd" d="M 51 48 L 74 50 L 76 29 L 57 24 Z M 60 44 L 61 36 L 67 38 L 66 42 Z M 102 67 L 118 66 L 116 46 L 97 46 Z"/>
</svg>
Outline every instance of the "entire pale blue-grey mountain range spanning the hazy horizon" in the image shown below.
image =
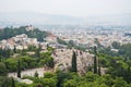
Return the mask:
<svg viewBox="0 0 131 87">
<path fill-rule="evenodd" d="M 130 25 L 131 13 L 95 15 L 95 16 L 68 16 L 57 14 L 45 14 L 37 12 L 9 12 L 0 13 L 0 26 L 11 25 Z"/>
</svg>

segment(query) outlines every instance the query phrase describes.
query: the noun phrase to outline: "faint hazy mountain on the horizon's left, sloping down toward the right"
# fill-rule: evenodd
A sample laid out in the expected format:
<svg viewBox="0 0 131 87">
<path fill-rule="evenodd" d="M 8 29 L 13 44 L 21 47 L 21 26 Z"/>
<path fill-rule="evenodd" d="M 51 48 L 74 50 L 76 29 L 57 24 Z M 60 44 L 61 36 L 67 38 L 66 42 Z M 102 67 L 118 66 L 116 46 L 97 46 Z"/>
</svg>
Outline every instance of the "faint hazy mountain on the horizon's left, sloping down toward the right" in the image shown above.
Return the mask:
<svg viewBox="0 0 131 87">
<path fill-rule="evenodd" d="M 2 24 L 80 24 L 81 18 L 67 16 L 67 15 L 53 15 L 35 12 L 14 12 L 14 13 L 0 13 L 0 23 Z M 7 23 L 5 23 L 7 22 Z"/>
</svg>

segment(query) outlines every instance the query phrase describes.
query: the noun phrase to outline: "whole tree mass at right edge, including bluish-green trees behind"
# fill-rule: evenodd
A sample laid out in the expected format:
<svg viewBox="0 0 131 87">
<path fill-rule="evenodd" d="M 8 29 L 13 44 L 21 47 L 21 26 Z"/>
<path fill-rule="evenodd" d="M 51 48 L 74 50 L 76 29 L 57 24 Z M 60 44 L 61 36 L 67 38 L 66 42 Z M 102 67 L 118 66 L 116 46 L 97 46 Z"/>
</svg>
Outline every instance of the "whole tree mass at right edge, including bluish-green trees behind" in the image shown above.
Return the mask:
<svg viewBox="0 0 131 87">
<path fill-rule="evenodd" d="M 111 51 L 111 48 L 99 50 L 99 60 L 102 65 L 107 67 L 107 73 L 112 77 L 123 77 L 124 80 L 131 83 L 131 44 L 119 46 L 114 42 L 118 51 Z"/>
</svg>

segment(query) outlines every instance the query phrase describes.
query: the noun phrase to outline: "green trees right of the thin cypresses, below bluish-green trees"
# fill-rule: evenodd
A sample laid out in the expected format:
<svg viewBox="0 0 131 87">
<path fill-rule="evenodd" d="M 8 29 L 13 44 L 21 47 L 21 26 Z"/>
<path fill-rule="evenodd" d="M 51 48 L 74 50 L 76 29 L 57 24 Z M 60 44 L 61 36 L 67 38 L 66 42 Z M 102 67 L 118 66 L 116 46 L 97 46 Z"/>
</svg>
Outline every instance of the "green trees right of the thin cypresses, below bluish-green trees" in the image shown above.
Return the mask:
<svg viewBox="0 0 131 87">
<path fill-rule="evenodd" d="M 110 74 L 112 77 L 122 77 L 128 83 L 131 83 L 131 60 L 124 60 L 120 57 L 110 57 L 107 54 L 98 55 L 100 60 L 100 65 L 107 67 L 107 74 Z"/>
</svg>

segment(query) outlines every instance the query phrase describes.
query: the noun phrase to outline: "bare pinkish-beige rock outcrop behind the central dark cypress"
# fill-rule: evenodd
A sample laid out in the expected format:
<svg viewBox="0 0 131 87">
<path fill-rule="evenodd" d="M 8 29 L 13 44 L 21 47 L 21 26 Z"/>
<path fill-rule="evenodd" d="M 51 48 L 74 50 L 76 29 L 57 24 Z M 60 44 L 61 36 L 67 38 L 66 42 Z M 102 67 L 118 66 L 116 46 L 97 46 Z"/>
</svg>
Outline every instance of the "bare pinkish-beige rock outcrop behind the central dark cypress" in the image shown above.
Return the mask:
<svg viewBox="0 0 131 87">
<path fill-rule="evenodd" d="M 55 70 L 69 71 L 71 67 L 72 53 L 76 53 L 78 72 L 84 74 L 88 66 L 93 66 L 94 54 L 75 49 L 56 49 L 52 54 L 56 65 Z"/>
</svg>

